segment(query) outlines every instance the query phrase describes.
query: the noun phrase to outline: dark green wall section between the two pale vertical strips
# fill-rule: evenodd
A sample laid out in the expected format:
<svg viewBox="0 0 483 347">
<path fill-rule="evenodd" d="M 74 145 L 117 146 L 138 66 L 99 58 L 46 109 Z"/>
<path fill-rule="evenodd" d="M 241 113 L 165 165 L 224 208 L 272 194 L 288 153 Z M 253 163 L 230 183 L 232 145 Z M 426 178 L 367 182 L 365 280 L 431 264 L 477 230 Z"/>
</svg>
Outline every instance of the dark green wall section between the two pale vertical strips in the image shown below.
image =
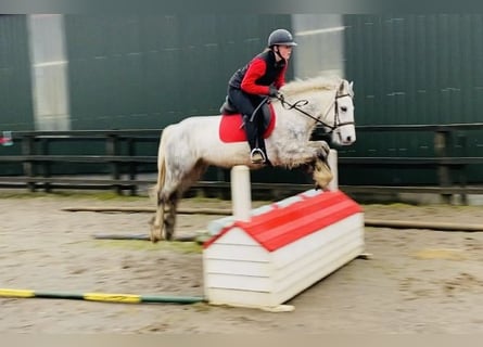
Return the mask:
<svg viewBox="0 0 483 347">
<path fill-rule="evenodd" d="M 288 15 L 65 17 L 73 129 L 163 128 L 217 114 L 231 74 Z"/>
</svg>

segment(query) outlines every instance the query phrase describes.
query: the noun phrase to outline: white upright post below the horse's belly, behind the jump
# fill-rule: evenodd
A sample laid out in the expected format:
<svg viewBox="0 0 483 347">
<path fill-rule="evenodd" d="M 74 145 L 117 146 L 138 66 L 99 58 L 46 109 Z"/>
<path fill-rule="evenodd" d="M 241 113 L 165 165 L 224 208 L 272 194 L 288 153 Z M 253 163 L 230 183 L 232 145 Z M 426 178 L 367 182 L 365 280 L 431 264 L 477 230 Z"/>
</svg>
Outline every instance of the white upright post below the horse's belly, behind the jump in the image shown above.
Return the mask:
<svg viewBox="0 0 483 347">
<path fill-rule="evenodd" d="M 252 185 L 250 169 L 245 165 L 231 168 L 231 205 L 234 220 L 250 221 L 252 210 Z"/>
</svg>

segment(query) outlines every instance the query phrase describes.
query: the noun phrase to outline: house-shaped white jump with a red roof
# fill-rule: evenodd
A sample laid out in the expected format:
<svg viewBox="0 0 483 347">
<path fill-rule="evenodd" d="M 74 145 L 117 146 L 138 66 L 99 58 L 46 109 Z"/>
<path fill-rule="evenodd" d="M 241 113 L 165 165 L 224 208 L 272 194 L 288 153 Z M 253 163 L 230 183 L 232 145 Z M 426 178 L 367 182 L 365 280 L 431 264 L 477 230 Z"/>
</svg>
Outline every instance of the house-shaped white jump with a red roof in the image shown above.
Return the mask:
<svg viewBox="0 0 483 347">
<path fill-rule="evenodd" d="M 363 209 L 341 191 L 310 190 L 257 210 L 225 220 L 204 244 L 211 304 L 291 310 L 282 304 L 364 252 Z"/>
</svg>

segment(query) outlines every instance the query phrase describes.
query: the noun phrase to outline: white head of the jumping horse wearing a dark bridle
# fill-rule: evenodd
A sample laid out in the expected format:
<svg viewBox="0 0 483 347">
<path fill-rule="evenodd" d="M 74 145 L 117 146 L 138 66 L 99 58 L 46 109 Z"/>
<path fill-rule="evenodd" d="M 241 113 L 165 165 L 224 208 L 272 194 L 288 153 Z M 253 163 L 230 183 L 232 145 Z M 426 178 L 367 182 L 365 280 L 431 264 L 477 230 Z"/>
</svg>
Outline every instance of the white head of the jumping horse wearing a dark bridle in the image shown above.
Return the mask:
<svg viewBox="0 0 483 347">
<path fill-rule="evenodd" d="M 349 145 L 356 141 L 354 123 L 354 82 L 343 79 L 336 89 L 333 106 L 332 143 Z"/>
</svg>

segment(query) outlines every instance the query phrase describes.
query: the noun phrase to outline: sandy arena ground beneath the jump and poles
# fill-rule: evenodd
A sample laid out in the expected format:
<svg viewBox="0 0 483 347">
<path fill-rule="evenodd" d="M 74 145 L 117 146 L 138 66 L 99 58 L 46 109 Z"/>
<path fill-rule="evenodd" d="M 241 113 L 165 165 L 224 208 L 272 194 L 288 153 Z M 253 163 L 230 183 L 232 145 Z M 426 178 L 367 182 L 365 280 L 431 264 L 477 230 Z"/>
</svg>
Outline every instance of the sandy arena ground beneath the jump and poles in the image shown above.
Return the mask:
<svg viewBox="0 0 483 347">
<path fill-rule="evenodd" d="M 152 207 L 148 198 L 0 195 L 0 288 L 203 296 L 194 243 L 94 240 L 148 233 L 150 214 L 65 207 Z M 257 202 L 254 206 L 262 205 Z M 181 207 L 230 207 L 185 200 Z M 483 224 L 476 206 L 364 205 L 366 218 Z M 177 233 L 220 216 L 180 215 Z M 288 304 L 292 312 L 204 303 L 109 304 L 0 298 L 9 333 L 483 333 L 483 233 L 366 228 L 372 259 L 355 259 Z"/>
</svg>

